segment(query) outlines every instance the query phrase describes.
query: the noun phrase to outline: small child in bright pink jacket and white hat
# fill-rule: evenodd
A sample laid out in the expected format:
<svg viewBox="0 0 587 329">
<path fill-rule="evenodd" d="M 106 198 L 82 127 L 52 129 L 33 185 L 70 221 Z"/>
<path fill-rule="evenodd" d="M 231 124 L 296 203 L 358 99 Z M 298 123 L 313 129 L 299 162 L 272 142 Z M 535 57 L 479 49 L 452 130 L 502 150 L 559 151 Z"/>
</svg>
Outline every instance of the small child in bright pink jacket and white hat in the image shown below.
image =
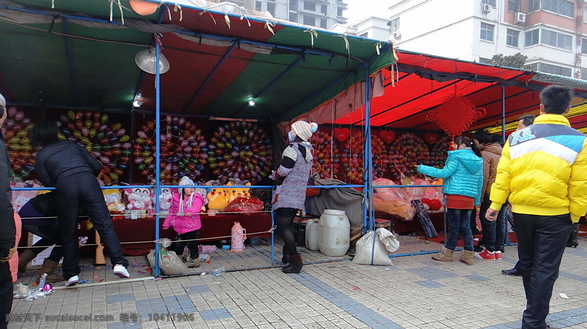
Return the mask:
<svg viewBox="0 0 587 329">
<path fill-rule="evenodd" d="M 188 177 L 183 177 L 179 183 L 181 186 L 194 186 L 194 182 Z M 200 266 L 200 250 L 198 249 L 198 233 L 202 223 L 200 221 L 200 211 L 204 205 L 204 197 L 195 193 L 193 187 L 184 187 L 173 194 L 171 199 L 171 208 L 163 228 L 173 227 L 176 231 L 176 241 L 171 250 L 177 253 L 180 258 L 183 255 L 184 246 L 190 249 L 190 256 L 185 259 L 188 268 L 197 268 Z M 184 241 L 189 240 L 189 241 Z"/>
</svg>

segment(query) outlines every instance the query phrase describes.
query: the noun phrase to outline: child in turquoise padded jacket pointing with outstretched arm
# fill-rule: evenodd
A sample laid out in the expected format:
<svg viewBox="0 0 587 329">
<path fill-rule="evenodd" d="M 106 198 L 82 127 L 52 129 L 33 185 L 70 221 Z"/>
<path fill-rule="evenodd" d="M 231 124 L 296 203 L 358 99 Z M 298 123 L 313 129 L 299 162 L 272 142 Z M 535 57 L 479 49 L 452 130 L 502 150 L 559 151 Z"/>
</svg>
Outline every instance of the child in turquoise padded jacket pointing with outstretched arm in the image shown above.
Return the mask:
<svg viewBox="0 0 587 329">
<path fill-rule="evenodd" d="M 473 265 L 473 232 L 471 232 L 471 212 L 481 204 L 483 187 L 483 159 L 475 140 L 465 136 L 455 139 L 457 150 L 449 151 L 443 169 L 418 166 L 418 172 L 444 180 L 443 193 L 446 194 L 448 217 L 448 238 L 440 252 L 432 256 L 434 261 L 452 262 L 453 251 L 457 246 L 459 233 L 463 234 L 465 248 L 460 261 Z"/>
</svg>

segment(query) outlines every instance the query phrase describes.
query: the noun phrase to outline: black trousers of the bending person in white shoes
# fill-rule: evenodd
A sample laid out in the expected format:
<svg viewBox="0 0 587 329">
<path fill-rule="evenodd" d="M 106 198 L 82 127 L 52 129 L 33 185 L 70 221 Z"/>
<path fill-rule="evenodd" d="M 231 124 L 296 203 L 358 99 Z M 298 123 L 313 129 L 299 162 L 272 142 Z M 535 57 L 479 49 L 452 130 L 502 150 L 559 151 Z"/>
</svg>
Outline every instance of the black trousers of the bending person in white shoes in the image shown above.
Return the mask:
<svg viewBox="0 0 587 329">
<path fill-rule="evenodd" d="M 124 258 L 119 239 L 114 233 L 112 219 L 96 177 L 90 173 L 63 177 L 58 180 L 56 191 L 60 242 L 63 249 L 63 277 L 68 280 L 80 272 L 77 237 L 77 214 L 80 207 L 86 208 L 87 214 L 92 218 L 112 265 L 128 267 L 129 262 Z"/>
</svg>

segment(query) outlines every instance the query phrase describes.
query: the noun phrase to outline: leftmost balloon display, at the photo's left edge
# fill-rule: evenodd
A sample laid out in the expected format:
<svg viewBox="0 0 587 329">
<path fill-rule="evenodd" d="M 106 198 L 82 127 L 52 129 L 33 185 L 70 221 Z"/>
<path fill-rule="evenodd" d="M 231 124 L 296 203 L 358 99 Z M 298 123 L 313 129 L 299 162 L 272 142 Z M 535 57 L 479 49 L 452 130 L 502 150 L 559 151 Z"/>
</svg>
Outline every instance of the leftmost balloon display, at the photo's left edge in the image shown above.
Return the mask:
<svg viewBox="0 0 587 329">
<path fill-rule="evenodd" d="M 11 175 L 16 179 L 28 179 L 35 165 L 35 155 L 28 133 L 32 128 L 31 118 L 15 107 L 9 107 L 2 125 L 6 148 L 12 160 Z"/>
</svg>

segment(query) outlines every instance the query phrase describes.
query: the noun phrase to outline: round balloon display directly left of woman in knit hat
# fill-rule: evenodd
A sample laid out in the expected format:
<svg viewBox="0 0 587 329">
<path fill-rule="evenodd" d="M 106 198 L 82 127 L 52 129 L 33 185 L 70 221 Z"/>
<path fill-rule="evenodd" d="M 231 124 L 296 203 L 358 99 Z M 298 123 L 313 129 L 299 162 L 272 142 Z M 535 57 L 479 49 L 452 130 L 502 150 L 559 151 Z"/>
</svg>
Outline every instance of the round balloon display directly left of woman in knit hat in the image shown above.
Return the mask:
<svg viewBox="0 0 587 329">
<path fill-rule="evenodd" d="M 212 176 L 226 180 L 248 180 L 252 184 L 271 174 L 273 148 L 259 125 L 234 121 L 215 126 L 204 152 Z"/>
</svg>

